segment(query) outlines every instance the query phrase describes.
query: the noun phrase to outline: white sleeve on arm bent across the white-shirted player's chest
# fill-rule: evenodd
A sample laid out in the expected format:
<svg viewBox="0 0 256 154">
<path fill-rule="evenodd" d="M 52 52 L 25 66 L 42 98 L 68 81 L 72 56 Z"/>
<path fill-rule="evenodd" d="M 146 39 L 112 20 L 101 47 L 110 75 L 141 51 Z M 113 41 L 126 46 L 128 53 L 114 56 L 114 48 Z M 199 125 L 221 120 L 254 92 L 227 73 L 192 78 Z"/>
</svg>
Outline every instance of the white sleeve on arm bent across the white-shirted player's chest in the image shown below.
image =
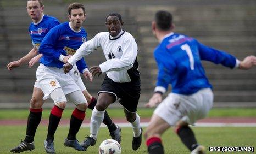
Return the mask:
<svg viewBox="0 0 256 154">
<path fill-rule="evenodd" d="M 99 65 L 102 72 L 120 71 L 132 68 L 138 54 L 138 47 L 135 39 L 128 38 L 124 42 L 123 55 L 120 59 L 114 58 Z"/>
</svg>

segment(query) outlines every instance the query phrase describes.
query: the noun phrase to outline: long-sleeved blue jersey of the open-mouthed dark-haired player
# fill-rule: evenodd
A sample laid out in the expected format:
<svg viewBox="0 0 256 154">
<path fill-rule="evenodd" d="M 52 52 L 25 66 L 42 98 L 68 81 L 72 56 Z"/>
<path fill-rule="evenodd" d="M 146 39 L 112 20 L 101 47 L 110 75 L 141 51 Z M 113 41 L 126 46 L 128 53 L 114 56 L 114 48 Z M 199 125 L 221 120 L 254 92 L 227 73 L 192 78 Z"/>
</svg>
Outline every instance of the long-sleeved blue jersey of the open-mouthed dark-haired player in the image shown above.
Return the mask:
<svg viewBox="0 0 256 154">
<path fill-rule="evenodd" d="M 61 23 L 51 29 L 43 38 L 39 52 L 43 54 L 40 62 L 44 66 L 63 68 L 63 62 L 59 61 L 60 56 L 74 55 L 80 45 L 86 42 L 87 33 L 84 28 L 79 32 L 69 25 L 69 22 Z M 76 62 L 80 73 L 88 68 L 84 59 Z"/>
</svg>

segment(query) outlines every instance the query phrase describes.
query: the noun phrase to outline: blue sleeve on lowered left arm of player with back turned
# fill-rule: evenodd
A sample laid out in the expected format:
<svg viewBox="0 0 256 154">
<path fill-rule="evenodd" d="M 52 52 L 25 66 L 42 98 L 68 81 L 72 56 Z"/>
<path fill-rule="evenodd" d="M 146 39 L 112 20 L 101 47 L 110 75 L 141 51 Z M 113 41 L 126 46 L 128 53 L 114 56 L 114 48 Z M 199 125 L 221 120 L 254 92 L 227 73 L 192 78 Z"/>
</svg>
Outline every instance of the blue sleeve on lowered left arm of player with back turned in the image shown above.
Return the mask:
<svg viewBox="0 0 256 154">
<path fill-rule="evenodd" d="M 158 66 L 157 84 L 154 91 L 165 93 L 168 90 L 171 74 L 173 74 L 176 64 L 171 60 L 170 55 L 161 49 L 155 50 L 154 58 Z"/>
</svg>

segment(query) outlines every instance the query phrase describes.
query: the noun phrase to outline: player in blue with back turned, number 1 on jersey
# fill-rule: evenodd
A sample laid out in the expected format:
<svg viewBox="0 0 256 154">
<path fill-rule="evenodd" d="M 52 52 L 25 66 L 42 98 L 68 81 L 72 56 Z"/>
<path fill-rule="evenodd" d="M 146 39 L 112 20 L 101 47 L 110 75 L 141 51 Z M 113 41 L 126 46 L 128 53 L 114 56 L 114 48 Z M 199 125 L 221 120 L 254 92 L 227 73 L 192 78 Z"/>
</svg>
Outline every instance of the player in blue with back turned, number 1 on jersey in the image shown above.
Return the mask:
<svg viewBox="0 0 256 154">
<path fill-rule="evenodd" d="M 154 51 L 159 72 L 155 93 L 146 106 L 153 107 L 162 102 L 162 95 L 169 84 L 172 92 L 157 106 L 144 134 L 148 153 L 164 153 L 160 137 L 171 126 L 176 127 L 177 135 L 191 153 L 205 153 L 188 126 L 203 119 L 213 105 L 212 86 L 205 76 L 201 60 L 231 69 L 249 69 L 256 65 L 256 57 L 248 56 L 239 61 L 230 54 L 209 48 L 173 30 L 172 15 L 158 11 L 152 22 L 152 32 L 160 43 Z"/>
</svg>

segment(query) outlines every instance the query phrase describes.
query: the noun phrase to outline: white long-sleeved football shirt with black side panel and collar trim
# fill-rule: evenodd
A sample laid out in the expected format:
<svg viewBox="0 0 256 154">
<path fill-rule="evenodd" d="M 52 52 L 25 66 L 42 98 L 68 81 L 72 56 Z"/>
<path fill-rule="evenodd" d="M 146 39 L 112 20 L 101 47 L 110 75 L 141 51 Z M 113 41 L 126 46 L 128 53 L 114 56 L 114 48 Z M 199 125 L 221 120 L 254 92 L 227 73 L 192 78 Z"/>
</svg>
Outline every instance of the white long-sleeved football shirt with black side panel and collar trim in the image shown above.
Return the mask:
<svg viewBox="0 0 256 154">
<path fill-rule="evenodd" d="M 133 36 L 125 31 L 121 31 L 114 38 L 109 35 L 109 32 L 98 33 L 94 38 L 83 43 L 76 50 L 75 55 L 69 58 L 68 62 L 74 65 L 78 60 L 90 54 L 99 46 L 102 47 L 107 60 L 100 64 L 99 67 L 102 72 L 107 73 L 108 78 L 114 82 L 123 83 L 132 81 L 135 76 L 139 77 L 136 58 L 138 46 Z"/>
</svg>

